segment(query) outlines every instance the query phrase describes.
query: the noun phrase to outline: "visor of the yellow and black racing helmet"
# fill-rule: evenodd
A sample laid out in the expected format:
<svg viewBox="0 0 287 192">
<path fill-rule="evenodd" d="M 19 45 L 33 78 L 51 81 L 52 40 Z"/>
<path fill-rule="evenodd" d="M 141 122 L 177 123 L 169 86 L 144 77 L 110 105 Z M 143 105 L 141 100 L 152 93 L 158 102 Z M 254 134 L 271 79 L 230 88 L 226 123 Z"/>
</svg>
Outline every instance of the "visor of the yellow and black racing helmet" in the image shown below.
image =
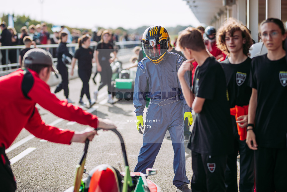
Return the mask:
<svg viewBox="0 0 287 192">
<path fill-rule="evenodd" d="M 142 40 L 144 53 L 151 58 L 156 58 L 168 49 L 168 41 L 166 39 L 156 42 L 155 39 Z"/>
</svg>

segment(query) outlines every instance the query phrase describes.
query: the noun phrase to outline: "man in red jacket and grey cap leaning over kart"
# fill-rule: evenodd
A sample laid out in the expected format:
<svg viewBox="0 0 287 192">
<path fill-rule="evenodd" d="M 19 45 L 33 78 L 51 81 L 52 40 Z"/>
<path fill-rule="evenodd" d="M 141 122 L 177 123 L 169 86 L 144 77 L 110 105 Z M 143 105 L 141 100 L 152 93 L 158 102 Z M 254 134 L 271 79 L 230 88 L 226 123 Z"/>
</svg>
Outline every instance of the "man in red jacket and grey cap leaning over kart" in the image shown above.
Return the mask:
<svg viewBox="0 0 287 192">
<path fill-rule="evenodd" d="M 97 134 L 96 130 L 75 132 L 46 125 L 35 107 L 36 103 L 62 119 L 95 129 L 116 128 L 110 120 L 98 118 L 67 100 L 60 101 L 51 93 L 46 82 L 51 71 L 57 70 L 49 52 L 31 49 L 24 55 L 23 64 L 24 68 L 0 77 L 0 186 L 1 190 L 4 187 L 3 190 L 8 192 L 16 190 L 16 182 L 5 149 L 23 128 L 38 138 L 61 144 L 83 143 Z"/>
</svg>

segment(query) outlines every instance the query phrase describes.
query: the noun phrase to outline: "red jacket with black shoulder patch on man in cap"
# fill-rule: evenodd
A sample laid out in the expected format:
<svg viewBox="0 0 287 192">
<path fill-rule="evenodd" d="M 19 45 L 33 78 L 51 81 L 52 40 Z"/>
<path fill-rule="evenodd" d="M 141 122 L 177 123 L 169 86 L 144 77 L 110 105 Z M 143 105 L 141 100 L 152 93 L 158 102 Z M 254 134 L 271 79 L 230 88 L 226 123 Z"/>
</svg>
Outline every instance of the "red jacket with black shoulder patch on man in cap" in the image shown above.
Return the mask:
<svg viewBox="0 0 287 192">
<path fill-rule="evenodd" d="M 32 88 L 27 93 L 27 97 L 30 99 L 25 97 L 22 91 L 25 70 L 18 69 L 0 77 L 0 146 L 4 144 L 7 149 L 22 128 L 27 129 L 38 138 L 70 144 L 74 131 L 45 125 L 35 107 L 36 103 L 62 119 L 97 128 L 98 118 L 96 115 L 68 104 L 66 100 L 60 101 L 51 93 L 50 87 L 39 78 L 35 71 L 29 69 L 29 72 L 32 74 L 30 79 L 33 79 L 32 83 L 26 83 L 26 86 L 32 84 Z"/>
</svg>

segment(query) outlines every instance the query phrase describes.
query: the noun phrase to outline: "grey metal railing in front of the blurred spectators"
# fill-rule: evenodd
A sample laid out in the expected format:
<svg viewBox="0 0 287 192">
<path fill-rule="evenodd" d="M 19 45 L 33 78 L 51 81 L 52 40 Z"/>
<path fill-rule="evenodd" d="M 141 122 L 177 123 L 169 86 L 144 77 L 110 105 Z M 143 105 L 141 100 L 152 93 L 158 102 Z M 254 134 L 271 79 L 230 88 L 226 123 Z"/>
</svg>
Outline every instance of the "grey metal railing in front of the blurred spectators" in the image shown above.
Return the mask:
<svg viewBox="0 0 287 192">
<path fill-rule="evenodd" d="M 91 42 L 90 47 L 95 47 L 97 45 L 96 42 Z M 134 48 L 135 46 L 141 46 L 141 41 L 121 41 L 121 42 L 116 42 L 115 45 L 118 46 L 119 51 L 118 51 L 118 57 L 121 56 L 124 59 L 128 59 L 128 57 L 130 57 L 130 53 L 132 48 Z M 36 45 L 37 48 L 45 48 L 45 49 L 49 49 L 49 52 L 52 55 L 54 54 L 54 48 L 57 48 L 59 46 L 59 44 L 49 44 L 49 45 Z M 79 44 L 78 43 L 68 43 L 67 47 L 69 49 L 69 51 L 74 52 L 76 49 L 79 48 Z M 2 64 L 0 65 L 0 76 L 9 74 L 13 71 L 16 70 L 16 68 L 18 68 L 20 66 L 19 64 L 19 55 L 20 55 L 20 50 L 25 48 L 24 45 L 17 45 L 17 46 L 0 46 L 0 50 L 5 50 L 5 55 L 6 55 L 6 63 L 7 64 Z M 31 48 L 34 48 L 34 45 L 31 46 Z M 16 49 L 16 57 L 17 57 L 17 63 L 8 63 L 8 51 L 9 50 L 14 50 Z M 125 58 L 125 56 L 127 58 Z M 54 64 L 57 64 L 57 58 L 53 57 L 53 61 Z"/>
</svg>

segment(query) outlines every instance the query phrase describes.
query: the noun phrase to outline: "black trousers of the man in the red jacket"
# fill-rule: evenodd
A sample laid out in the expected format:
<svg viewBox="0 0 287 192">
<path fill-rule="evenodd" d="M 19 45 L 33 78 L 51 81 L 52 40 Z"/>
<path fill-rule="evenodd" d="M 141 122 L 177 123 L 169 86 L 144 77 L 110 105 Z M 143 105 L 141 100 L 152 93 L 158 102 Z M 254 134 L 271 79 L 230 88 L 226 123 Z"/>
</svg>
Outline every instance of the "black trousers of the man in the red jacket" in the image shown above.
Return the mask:
<svg viewBox="0 0 287 192">
<path fill-rule="evenodd" d="M 4 147 L 0 147 L 0 191 L 16 191 L 16 181 Z"/>
</svg>

